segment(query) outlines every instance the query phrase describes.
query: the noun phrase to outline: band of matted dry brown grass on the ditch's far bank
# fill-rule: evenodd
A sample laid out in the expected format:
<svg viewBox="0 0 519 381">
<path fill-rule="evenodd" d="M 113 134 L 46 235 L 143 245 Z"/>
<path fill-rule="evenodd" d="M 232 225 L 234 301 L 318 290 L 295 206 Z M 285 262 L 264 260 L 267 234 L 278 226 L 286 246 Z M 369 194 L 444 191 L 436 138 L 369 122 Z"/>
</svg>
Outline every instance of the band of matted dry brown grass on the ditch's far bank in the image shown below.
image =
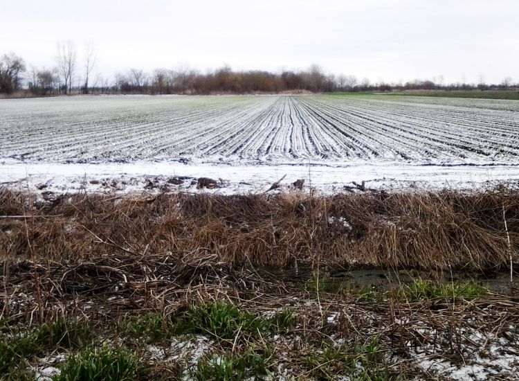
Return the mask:
<svg viewBox="0 0 519 381">
<path fill-rule="evenodd" d="M 54 202 L 3 190 L 0 215 L 3 259 L 133 254 L 198 256 L 230 267 L 486 271 L 519 258 L 519 192 L 507 188 L 471 195 L 71 195 Z"/>
</svg>

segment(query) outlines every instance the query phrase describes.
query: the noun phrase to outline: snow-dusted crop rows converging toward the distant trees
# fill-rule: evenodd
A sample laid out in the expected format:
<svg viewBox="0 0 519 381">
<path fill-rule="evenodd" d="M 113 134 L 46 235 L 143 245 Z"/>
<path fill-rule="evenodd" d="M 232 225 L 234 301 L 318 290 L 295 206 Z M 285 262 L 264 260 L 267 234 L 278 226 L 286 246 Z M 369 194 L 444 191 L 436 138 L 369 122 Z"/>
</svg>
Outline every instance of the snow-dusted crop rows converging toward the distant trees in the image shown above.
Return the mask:
<svg viewBox="0 0 519 381">
<path fill-rule="evenodd" d="M 519 103 L 389 96 L 0 101 L 0 158 L 519 163 Z"/>
</svg>

